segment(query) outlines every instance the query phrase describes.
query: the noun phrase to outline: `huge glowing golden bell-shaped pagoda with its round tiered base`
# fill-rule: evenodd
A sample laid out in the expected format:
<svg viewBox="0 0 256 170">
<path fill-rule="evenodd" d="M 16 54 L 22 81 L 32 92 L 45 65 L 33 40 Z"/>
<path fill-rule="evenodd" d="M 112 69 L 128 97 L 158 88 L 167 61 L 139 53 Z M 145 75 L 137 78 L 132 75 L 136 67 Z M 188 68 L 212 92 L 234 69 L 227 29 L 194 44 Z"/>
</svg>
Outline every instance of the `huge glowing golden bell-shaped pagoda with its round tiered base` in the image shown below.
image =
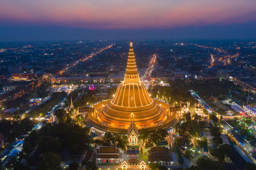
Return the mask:
<svg viewBox="0 0 256 170">
<path fill-rule="evenodd" d="M 168 129 L 175 124 L 175 113 L 170 105 L 151 99 L 140 81 L 136 60 L 130 43 L 124 81 L 120 83 L 113 99 L 95 104 L 86 122 L 101 131 L 127 133 L 132 122 L 142 129 Z"/>
</svg>

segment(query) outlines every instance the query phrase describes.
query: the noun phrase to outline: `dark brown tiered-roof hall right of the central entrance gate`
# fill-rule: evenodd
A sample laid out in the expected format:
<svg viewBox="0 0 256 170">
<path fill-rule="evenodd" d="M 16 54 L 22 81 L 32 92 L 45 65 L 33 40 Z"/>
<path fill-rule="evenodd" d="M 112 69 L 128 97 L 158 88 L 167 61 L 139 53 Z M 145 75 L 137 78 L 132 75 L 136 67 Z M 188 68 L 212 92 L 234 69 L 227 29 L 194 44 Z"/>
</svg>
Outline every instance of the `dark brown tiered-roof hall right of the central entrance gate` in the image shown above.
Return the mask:
<svg viewBox="0 0 256 170">
<path fill-rule="evenodd" d="M 157 146 L 148 151 L 148 162 L 160 161 L 163 166 L 170 166 L 172 156 L 166 147 Z"/>
</svg>

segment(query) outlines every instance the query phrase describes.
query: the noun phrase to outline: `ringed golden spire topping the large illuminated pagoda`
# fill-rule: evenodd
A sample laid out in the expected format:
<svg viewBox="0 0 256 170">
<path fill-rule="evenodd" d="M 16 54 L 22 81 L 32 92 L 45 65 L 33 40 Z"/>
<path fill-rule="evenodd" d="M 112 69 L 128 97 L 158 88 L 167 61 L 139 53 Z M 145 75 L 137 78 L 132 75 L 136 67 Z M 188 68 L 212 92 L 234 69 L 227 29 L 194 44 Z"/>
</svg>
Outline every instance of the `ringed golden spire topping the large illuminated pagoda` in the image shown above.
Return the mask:
<svg viewBox="0 0 256 170">
<path fill-rule="evenodd" d="M 130 43 L 129 55 L 127 60 L 127 67 L 125 71 L 124 83 L 139 83 L 140 76 L 136 66 L 136 60 L 132 48 L 132 42 Z"/>
</svg>

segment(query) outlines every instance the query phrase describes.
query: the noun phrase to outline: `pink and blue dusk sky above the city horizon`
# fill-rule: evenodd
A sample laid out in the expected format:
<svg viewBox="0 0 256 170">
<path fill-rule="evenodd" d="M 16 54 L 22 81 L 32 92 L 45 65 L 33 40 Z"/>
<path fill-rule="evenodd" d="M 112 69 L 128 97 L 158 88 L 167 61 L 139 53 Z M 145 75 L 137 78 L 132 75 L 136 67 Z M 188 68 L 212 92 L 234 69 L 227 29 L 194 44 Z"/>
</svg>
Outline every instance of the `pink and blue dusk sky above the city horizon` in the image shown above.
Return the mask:
<svg viewBox="0 0 256 170">
<path fill-rule="evenodd" d="M 255 0 L 1 0 L 0 41 L 254 39 Z"/>
</svg>

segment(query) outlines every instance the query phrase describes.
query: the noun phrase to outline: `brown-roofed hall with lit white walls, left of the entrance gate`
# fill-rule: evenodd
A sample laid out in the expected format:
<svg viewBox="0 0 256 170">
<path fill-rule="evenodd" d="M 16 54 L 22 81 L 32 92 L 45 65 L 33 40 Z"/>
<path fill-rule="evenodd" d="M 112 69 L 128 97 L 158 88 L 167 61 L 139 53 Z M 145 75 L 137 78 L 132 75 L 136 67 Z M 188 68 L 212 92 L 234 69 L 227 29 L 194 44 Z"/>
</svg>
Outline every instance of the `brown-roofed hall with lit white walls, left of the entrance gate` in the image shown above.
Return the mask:
<svg viewBox="0 0 256 170">
<path fill-rule="evenodd" d="M 97 164 L 121 163 L 123 160 L 122 150 L 116 148 L 116 146 L 99 146 L 99 148 L 97 148 Z"/>
</svg>

